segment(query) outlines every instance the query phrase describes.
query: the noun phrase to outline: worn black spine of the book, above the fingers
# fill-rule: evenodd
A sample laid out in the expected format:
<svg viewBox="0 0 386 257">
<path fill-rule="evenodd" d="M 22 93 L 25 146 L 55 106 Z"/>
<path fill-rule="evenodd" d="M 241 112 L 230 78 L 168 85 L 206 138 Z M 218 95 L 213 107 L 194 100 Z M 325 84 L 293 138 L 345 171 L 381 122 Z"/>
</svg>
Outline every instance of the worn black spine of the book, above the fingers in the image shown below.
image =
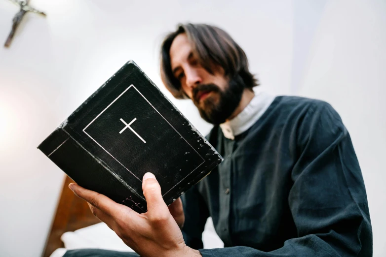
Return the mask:
<svg viewBox="0 0 386 257">
<path fill-rule="evenodd" d="M 123 185 L 103 161 L 90 154 L 63 128 L 52 132 L 38 149 L 79 186 L 102 193 L 138 213 L 147 211 L 145 200 Z"/>
</svg>

